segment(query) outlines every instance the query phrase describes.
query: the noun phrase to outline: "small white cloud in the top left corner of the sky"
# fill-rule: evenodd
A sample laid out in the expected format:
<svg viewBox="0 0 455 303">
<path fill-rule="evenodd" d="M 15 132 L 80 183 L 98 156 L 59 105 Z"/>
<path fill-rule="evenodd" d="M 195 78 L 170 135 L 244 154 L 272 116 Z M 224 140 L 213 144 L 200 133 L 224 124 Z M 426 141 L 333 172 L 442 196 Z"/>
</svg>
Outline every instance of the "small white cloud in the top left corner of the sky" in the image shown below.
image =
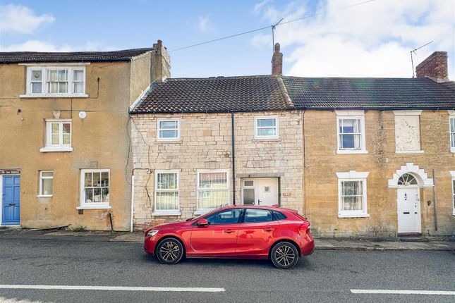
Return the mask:
<svg viewBox="0 0 455 303">
<path fill-rule="evenodd" d="M 49 14 L 35 15 L 27 6 L 6 4 L 0 5 L 0 32 L 18 32 L 32 34 L 45 23 L 53 23 L 54 17 Z"/>
</svg>

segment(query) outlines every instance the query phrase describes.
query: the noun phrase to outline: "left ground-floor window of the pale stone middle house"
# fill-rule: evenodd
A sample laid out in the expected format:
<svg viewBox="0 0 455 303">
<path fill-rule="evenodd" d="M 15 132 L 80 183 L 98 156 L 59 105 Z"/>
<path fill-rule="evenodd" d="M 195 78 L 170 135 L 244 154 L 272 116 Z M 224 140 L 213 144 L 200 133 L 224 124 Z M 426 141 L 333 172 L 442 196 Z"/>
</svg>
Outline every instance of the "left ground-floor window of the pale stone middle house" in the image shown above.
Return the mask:
<svg viewBox="0 0 455 303">
<path fill-rule="evenodd" d="M 154 214 L 179 215 L 178 171 L 156 171 L 154 188 Z"/>
</svg>

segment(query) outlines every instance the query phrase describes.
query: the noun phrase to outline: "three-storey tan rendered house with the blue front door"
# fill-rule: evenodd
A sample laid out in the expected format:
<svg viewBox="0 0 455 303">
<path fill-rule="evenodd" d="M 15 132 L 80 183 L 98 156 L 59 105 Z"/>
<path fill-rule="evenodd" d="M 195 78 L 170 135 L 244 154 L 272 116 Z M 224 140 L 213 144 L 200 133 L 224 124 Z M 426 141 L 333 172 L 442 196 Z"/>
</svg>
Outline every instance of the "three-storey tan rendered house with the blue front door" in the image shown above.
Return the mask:
<svg viewBox="0 0 455 303">
<path fill-rule="evenodd" d="M 161 41 L 0 53 L 0 225 L 128 230 L 128 106 L 169 76 Z"/>
</svg>

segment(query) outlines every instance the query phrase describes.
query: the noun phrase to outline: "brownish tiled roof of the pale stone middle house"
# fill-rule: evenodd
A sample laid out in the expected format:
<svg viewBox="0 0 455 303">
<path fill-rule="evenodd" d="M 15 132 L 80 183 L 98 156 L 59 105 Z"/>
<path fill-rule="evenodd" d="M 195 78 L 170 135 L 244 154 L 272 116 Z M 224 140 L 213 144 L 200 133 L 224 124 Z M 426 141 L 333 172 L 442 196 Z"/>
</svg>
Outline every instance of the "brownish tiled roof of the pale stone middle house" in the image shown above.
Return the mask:
<svg viewBox="0 0 455 303">
<path fill-rule="evenodd" d="M 286 100 L 280 81 L 272 75 L 168 79 L 152 86 L 132 113 L 293 109 L 293 104 Z"/>
</svg>

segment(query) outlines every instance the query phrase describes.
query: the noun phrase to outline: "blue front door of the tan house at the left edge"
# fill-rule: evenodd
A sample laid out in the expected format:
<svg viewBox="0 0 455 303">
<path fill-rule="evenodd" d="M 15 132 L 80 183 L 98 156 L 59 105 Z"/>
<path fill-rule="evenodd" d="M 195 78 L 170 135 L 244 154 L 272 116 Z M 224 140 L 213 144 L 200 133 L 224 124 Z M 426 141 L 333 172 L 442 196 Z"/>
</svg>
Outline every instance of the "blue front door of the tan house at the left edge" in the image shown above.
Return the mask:
<svg viewBox="0 0 455 303">
<path fill-rule="evenodd" d="M 1 223 L 3 225 L 20 223 L 19 188 L 20 177 L 18 175 L 4 175 L 3 202 L 1 204 Z"/>
</svg>

